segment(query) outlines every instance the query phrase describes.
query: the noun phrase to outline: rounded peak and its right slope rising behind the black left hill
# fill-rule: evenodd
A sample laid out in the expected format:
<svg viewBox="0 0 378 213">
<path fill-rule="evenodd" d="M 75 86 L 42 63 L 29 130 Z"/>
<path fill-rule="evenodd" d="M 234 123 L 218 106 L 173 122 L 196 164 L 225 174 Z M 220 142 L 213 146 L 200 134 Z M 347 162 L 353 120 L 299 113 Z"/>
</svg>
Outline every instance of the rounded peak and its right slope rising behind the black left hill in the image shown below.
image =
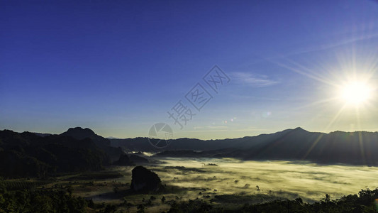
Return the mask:
<svg viewBox="0 0 378 213">
<path fill-rule="evenodd" d="M 72 138 L 82 140 L 84 138 L 90 138 L 91 141 L 94 141 L 96 146 L 99 146 L 106 154 L 109 155 L 111 161 L 118 160 L 119 156 L 123 154 L 123 151 L 119 147 L 113 147 L 111 141 L 108 138 L 96 135 L 91 129 L 82 129 L 81 127 L 70 128 L 64 133 L 61 133 L 60 136 L 71 136 Z"/>
</svg>

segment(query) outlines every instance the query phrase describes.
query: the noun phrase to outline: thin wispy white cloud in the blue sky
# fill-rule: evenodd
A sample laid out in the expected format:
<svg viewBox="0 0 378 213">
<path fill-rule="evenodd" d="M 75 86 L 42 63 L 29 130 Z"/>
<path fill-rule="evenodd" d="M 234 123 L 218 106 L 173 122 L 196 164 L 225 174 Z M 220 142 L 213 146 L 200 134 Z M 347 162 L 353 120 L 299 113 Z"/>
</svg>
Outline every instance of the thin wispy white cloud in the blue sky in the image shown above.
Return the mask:
<svg viewBox="0 0 378 213">
<path fill-rule="evenodd" d="M 269 87 L 279 82 L 276 80 L 271 80 L 267 75 L 255 75 L 249 72 L 232 72 L 233 80 L 238 82 L 243 82 L 252 87 Z"/>
</svg>

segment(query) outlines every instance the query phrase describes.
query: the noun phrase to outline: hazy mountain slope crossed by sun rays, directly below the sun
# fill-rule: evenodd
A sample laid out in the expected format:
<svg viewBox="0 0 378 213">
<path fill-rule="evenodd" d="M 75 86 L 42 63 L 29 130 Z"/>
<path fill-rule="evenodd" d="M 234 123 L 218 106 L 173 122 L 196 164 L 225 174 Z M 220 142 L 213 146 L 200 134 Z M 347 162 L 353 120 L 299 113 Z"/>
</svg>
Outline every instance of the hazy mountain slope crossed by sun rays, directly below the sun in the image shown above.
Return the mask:
<svg viewBox="0 0 378 213">
<path fill-rule="evenodd" d="M 288 131 L 280 138 L 240 151 L 244 159 L 311 160 L 317 163 L 378 165 L 377 132 L 316 133 Z"/>
</svg>

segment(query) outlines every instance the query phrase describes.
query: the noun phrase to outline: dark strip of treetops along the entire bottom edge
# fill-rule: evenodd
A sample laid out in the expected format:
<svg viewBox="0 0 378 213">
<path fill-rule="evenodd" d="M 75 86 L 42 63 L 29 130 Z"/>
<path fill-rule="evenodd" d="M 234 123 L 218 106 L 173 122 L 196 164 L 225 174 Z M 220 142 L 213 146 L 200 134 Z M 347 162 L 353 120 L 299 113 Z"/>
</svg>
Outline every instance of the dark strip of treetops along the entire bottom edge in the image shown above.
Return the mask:
<svg viewBox="0 0 378 213">
<path fill-rule="evenodd" d="M 158 195 L 155 195 L 158 196 Z M 20 199 L 22 197 L 22 199 Z M 1 212 L 119 212 L 119 209 L 138 209 L 138 212 L 151 212 L 149 209 L 157 202 L 167 205 L 164 212 L 338 212 L 338 213 L 373 213 L 378 211 L 378 189 L 361 190 L 358 195 L 343 196 L 338 200 L 330 200 L 328 195 L 315 203 L 305 203 L 300 197 L 295 200 L 279 199 L 260 204 L 249 204 L 248 198 L 240 200 L 240 196 L 216 196 L 211 202 L 202 199 L 189 201 L 166 200 L 165 197 L 151 196 L 143 204 L 130 204 L 125 201 L 121 204 L 94 203 L 82 197 L 72 195 L 70 186 L 56 190 L 43 189 L 16 189 L 0 181 L 0 211 Z M 226 199 L 226 200 L 225 200 Z M 243 203 L 244 202 L 244 203 Z M 122 210 L 121 210 L 122 211 Z"/>
</svg>

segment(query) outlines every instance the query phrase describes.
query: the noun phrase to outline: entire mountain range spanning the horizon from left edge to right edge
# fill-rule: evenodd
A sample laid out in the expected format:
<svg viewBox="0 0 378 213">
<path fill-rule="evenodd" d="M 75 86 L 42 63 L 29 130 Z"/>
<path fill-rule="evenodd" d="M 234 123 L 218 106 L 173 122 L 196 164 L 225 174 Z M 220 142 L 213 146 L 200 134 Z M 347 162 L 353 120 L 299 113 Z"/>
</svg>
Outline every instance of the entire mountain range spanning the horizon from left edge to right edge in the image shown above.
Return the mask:
<svg viewBox="0 0 378 213">
<path fill-rule="evenodd" d="M 80 127 L 60 134 L 3 130 L 0 131 L 0 176 L 45 177 L 56 173 L 101 170 L 104 165 L 112 163 L 148 162 L 138 155 L 128 155 L 126 159 L 125 152 L 152 152 L 155 158 L 305 160 L 376 166 L 378 132 L 320 133 L 296 128 L 232 139 L 179 138 L 161 149 L 152 146 L 148 138 L 109 139 Z"/>
</svg>

